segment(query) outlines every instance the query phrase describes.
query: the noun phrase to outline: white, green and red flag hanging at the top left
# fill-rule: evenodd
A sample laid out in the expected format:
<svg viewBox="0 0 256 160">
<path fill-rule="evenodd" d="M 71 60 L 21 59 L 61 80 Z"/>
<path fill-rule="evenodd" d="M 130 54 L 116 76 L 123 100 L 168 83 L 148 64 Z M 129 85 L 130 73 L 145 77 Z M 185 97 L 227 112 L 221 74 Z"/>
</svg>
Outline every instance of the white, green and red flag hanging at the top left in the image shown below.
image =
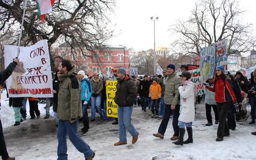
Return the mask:
<svg viewBox="0 0 256 160">
<path fill-rule="evenodd" d="M 44 16 L 52 12 L 52 5 L 55 0 L 38 0 L 37 8 L 39 19 L 44 23 Z"/>
</svg>

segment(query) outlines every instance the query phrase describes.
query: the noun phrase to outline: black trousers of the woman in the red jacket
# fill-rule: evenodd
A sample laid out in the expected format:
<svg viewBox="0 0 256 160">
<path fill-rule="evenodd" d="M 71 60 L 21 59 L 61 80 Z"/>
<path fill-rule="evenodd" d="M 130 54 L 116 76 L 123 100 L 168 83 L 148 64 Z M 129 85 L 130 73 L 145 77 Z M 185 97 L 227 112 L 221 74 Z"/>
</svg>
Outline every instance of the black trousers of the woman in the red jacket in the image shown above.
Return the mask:
<svg viewBox="0 0 256 160">
<path fill-rule="evenodd" d="M 224 133 L 229 133 L 229 126 L 227 126 L 226 116 L 229 112 L 230 105 L 232 102 L 217 103 L 217 109 L 219 113 L 219 127 L 217 131 L 217 136 L 219 138 L 224 137 Z"/>
</svg>

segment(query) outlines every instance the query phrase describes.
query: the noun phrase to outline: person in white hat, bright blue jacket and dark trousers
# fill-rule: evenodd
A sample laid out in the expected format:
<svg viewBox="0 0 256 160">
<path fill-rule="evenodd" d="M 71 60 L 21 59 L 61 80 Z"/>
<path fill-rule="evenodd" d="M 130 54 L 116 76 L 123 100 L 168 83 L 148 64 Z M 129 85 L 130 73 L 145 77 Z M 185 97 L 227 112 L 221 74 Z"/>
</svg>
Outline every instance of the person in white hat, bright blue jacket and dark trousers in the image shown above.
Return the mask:
<svg viewBox="0 0 256 160">
<path fill-rule="evenodd" d="M 88 79 L 88 76 L 85 75 L 84 70 L 80 70 L 77 73 L 77 78 L 81 80 L 81 100 L 82 100 L 82 121 L 84 124 L 84 127 L 82 128 L 82 132 L 86 133 L 88 132 L 89 126 L 89 119 L 88 119 L 88 102 L 91 99 L 92 95 L 92 85 L 90 80 Z"/>
</svg>

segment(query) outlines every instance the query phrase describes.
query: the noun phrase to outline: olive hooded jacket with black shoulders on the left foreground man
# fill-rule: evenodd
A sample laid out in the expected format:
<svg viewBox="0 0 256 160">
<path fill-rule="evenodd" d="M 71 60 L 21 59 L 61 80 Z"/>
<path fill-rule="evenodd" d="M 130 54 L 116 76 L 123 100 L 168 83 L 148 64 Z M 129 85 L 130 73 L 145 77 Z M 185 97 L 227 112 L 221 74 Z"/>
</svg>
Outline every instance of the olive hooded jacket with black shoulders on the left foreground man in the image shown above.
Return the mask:
<svg viewBox="0 0 256 160">
<path fill-rule="evenodd" d="M 75 75 L 73 67 L 68 73 L 59 76 L 57 113 L 63 121 L 82 117 L 81 85 Z"/>
</svg>

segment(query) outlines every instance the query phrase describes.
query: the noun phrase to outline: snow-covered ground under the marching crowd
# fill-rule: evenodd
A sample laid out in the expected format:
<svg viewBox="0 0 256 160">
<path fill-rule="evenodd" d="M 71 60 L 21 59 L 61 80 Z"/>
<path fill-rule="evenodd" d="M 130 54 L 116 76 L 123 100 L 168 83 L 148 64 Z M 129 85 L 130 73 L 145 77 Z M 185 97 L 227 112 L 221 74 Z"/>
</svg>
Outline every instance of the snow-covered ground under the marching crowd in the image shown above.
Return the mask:
<svg viewBox="0 0 256 160">
<path fill-rule="evenodd" d="M 53 118 L 43 119 L 44 104 L 39 106 L 43 113 L 40 118 L 30 120 L 28 116 L 28 120 L 14 127 L 13 110 L 5 100 L 3 96 L 0 118 L 9 155 L 18 160 L 57 159 L 57 127 Z M 94 159 L 256 159 L 256 136 L 251 134 L 256 131 L 256 125 L 248 125 L 250 117 L 245 122 L 238 122 L 236 130 L 230 131 L 230 136 L 225 137 L 224 141 L 216 142 L 218 125 L 205 127 L 204 105 L 199 104 L 193 123 L 193 144 L 176 146 L 170 140 L 173 134 L 172 120 L 169 121 L 164 139 L 158 139 L 152 134 L 158 131 L 160 120 L 150 115 L 151 112 L 143 112 L 140 107 L 133 109 L 132 123 L 140 133 L 136 144 L 131 143 L 132 137 L 127 132 L 127 145 L 114 146 L 119 140 L 118 126 L 112 125 L 113 120 L 101 122 L 99 117 L 90 123 L 90 130 L 86 134 L 81 134 L 80 123 L 79 134 L 96 152 Z M 69 140 L 68 155 L 69 159 L 84 159 Z"/>
</svg>

